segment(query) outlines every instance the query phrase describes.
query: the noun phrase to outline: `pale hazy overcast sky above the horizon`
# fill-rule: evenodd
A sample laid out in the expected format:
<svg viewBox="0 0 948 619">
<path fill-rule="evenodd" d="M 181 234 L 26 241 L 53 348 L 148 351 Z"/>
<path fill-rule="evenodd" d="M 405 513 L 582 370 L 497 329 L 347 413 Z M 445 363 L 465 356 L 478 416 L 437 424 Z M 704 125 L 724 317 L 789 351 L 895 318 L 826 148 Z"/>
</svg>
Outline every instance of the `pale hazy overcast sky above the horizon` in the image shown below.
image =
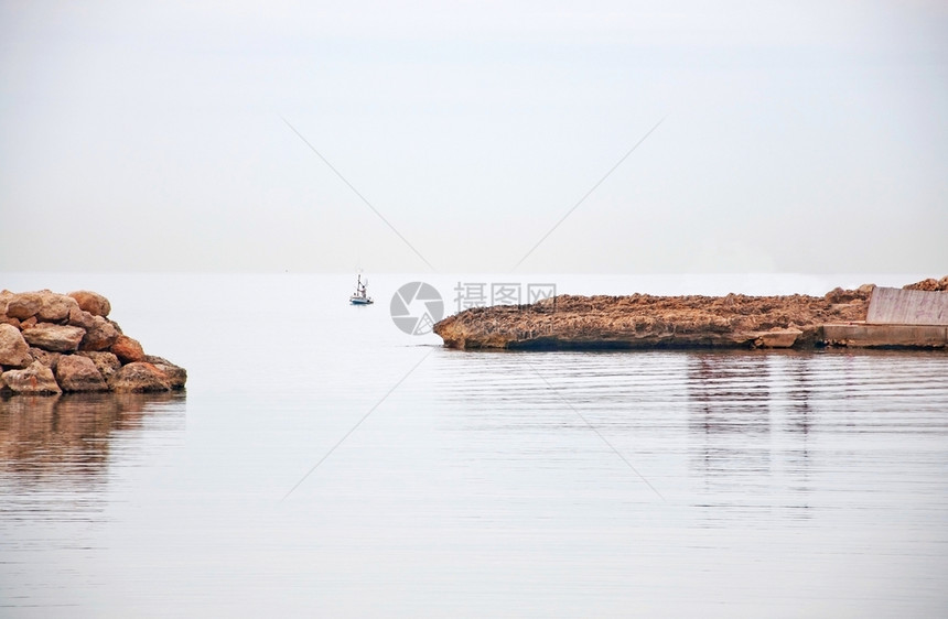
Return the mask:
<svg viewBox="0 0 948 619">
<path fill-rule="evenodd" d="M 0 271 L 507 272 L 659 121 L 519 272 L 948 273 L 912 0 L 0 0 Z"/>
</svg>

